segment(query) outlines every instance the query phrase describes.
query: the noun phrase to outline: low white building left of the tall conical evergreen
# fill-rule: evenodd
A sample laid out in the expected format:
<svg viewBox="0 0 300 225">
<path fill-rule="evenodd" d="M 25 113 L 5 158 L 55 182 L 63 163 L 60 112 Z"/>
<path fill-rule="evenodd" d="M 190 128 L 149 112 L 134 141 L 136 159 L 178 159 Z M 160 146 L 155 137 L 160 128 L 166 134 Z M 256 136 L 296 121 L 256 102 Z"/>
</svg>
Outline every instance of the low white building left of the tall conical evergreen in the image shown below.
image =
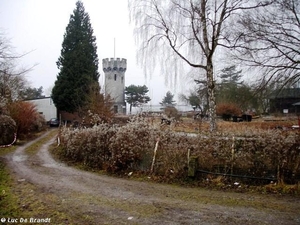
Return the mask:
<svg viewBox="0 0 300 225">
<path fill-rule="evenodd" d="M 46 121 L 49 121 L 51 118 L 57 118 L 57 109 L 51 97 L 37 98 L 27 100 L 26 102 L 33 103 L 37 111 L 44 116 Z"/>
</svg>

